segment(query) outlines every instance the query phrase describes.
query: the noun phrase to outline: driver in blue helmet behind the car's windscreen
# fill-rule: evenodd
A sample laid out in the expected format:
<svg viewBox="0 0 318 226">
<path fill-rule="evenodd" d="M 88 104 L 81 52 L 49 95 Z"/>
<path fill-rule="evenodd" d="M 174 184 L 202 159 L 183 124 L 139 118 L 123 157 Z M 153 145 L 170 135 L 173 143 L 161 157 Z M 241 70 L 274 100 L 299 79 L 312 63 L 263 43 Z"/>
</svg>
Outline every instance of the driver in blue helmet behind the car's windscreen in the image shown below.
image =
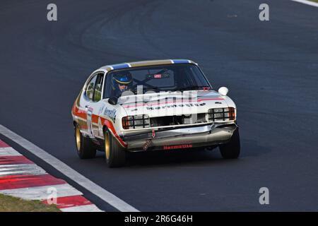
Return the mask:
<svg viewBox="0 0 318 226">
<path fill-rule="evenodd" d="M 119 97 L 132 85 L 132 76 L 129 71 L 122 71 L 112 76 L 112 90 L 114 95 Z"/>
</svg>

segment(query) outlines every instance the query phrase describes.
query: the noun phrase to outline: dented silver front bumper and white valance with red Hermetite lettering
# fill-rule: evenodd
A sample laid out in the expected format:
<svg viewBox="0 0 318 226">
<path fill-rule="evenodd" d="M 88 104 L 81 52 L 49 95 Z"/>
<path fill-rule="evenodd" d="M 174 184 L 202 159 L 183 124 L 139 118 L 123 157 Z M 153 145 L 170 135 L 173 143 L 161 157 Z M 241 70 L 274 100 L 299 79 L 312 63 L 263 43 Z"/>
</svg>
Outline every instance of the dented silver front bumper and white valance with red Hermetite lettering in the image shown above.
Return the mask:
<svg viewBox="0 0 318 226">
<path fill-rule="evenodd" d="M 230 141 L 237 124 L 207 124 L 121 136 L 129 151 L 169 150 L 219 145 Z"/>
</svg>

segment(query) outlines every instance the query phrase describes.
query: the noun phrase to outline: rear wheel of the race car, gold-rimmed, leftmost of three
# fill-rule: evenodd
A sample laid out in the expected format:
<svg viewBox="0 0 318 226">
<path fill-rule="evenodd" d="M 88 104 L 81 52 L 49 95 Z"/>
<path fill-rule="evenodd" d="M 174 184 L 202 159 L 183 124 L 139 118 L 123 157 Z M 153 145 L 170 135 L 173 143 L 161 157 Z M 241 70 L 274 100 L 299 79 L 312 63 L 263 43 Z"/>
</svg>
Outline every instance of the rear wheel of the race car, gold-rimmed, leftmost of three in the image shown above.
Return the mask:
<svg viewBox="0 0 318 226">
<path fill-rule="evenodd" d="M 78 124 L 75 126 L 75 141 L 78 157 L 81 159 L 93 158 L 96 155 L 96 148 L 90 138 L 82 135 Z"/>
</svg>

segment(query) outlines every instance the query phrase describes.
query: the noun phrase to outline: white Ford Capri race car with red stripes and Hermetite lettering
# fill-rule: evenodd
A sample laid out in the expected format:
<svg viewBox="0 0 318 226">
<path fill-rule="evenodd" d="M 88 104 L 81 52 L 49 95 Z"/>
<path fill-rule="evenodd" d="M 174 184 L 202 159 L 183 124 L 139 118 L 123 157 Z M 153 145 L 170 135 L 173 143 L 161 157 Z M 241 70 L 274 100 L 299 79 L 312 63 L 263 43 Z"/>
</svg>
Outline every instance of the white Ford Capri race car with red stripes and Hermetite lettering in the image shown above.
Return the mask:
<svg viewBox="0 0 318 226">
<path fill-rule="evenodd" d="M 220 148 L 240 155 L 235 103 L 212 89 L 194 61 L 139 61 L 102 66 L 76 98 L 71 114 L 82 159 L 105 151 L 109 167 L 127 152 Z"/>
</svg>

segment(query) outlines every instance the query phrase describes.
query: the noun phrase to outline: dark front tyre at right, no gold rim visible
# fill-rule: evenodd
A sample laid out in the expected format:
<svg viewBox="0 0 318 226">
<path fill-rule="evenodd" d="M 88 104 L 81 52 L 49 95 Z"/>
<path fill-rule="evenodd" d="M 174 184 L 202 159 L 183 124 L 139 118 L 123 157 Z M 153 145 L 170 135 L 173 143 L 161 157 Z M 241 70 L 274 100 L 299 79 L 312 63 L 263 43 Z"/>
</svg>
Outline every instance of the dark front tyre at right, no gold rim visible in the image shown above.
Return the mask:
<svg viewBox="0 0 318 226">
<path fill-rule="evenodd" d="M 219 146 L 220 153 L 225 159 L 235 159 L 240 155 L 240 133 L 235 129 L 230 141 Z"/>
</svg>

